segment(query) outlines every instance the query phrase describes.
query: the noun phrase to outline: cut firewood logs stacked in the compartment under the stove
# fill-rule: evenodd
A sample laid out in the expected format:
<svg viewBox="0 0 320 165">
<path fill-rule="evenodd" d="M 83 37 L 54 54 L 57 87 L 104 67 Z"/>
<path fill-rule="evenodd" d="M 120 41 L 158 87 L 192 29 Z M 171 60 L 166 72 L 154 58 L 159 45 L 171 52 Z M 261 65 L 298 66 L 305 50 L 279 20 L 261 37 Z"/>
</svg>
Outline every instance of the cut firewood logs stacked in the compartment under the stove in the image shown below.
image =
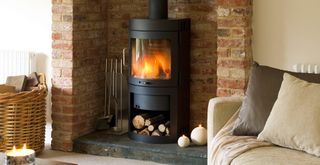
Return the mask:
<svg viewBox="0 0 320 165">
<path fill-rule="evenodd" d="M 170 121 L 162 114 L 139 114 L 133 118 L 132 124 L 135 128 L 133 132 L 139 135 L 170 136 Z"/>
</svg>

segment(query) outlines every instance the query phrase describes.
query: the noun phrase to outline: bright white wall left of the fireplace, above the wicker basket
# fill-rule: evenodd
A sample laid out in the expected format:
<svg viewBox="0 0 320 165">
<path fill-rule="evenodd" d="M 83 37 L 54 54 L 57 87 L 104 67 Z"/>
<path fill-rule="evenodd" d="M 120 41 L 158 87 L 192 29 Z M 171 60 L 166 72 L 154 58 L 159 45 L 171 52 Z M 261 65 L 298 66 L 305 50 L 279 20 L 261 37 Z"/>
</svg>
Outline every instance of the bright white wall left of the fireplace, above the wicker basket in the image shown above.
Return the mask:
<svg viewBox="0 0 320 165">
<path fill-rule="evenodd" d="M 51 86 L 51 17 L 51 0 L 0 1 L 0 50 L 23 50 L 41 54 L 37 70 L 46 73 L 49 87 Z M 47 105 L 50 109 L 49 102 Z M 47 118 L 50 119 L 50 116 Z"/>
</svg>

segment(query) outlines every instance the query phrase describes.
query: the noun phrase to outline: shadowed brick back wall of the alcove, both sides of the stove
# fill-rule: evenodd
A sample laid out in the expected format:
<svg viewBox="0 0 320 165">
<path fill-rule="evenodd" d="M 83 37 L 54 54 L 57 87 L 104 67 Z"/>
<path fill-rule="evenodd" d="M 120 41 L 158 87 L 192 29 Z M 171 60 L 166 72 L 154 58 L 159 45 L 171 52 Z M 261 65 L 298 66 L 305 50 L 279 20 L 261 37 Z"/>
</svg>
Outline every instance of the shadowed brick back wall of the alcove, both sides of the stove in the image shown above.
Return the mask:
<svg viewBox="0 0 320 165">
<path fill-rule="evenodd" d="M 216 94 L 215 1 L 169 0 L 169 17 L 191 18 L 191 127 L 206 124 L 209 98 Z M 148 1 L 109 0 L 108 56 L 121 57 L 128 47 L 128 20 L 148 16 Z"/>
</svg>

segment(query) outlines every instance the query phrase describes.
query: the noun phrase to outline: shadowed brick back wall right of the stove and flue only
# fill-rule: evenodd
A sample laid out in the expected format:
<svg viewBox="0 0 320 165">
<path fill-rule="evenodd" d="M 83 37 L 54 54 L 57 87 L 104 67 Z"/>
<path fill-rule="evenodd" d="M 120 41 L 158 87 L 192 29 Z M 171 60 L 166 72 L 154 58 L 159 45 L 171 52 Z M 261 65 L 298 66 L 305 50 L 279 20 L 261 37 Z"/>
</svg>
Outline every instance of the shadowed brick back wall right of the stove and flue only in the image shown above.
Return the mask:
<svg viewBox="0 0 320 165">
<path fill-rule="evenodd" d="M 215 1 L 169 1 L 169 16 L 191 18 L 190 127 L 206 125 L 208 100 L 216 96 Z"/>
</svg>

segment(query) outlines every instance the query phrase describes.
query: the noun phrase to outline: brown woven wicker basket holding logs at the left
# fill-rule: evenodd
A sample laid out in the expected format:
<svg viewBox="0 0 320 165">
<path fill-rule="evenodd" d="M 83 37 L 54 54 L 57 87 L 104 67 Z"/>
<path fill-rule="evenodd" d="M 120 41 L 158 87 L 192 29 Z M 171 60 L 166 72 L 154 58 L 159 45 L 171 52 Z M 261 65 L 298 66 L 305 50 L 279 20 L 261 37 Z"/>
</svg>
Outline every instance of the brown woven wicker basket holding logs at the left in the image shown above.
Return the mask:
<svg viewBox="0 0 320 165">
<path fill-rule="evenodd" d="M 0 94 L 0 151 L 24 143 L 37 153 L 44 149 L 47 86 L 44 74 L 39 76 L 38 89 Z"/>
</svg>

